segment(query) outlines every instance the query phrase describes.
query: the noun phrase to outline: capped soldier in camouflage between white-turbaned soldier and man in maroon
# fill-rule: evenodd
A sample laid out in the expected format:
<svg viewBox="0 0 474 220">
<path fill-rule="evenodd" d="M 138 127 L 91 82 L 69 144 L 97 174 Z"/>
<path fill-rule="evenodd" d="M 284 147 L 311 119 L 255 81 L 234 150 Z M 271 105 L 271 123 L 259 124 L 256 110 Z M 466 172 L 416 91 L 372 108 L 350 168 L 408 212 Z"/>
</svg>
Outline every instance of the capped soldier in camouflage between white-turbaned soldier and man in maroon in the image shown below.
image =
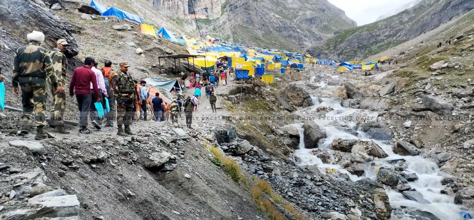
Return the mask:
<svg viewBox="0 0 474 220">
<path fill-rule="evenodd" d="M 53 62 L 53 69 L 55 70 L 57 83 L 63 87 L 66 85 L 67 77 L 67 59 L 63 52 L 67 50 L 67 46 L 69 46 L 69 44 L 66 42 L 66 40 L 59 39 L 56 42 L 56 47 L 51 53 L 49 53 L 51 61 Z M 51 113 L 48 121 L 49 125 L 51 127 L 55 127 L 55 132 L 69 134 L 69 131 L 64 129 L 63 123 L 64 110 L 66 109 L 66 93 L 55 93 L 53 84 L 50 82 L 50 80 L 47 81 L 51 95 L 53 96 L 54 103 L 54 111 Z"/>
</svg>

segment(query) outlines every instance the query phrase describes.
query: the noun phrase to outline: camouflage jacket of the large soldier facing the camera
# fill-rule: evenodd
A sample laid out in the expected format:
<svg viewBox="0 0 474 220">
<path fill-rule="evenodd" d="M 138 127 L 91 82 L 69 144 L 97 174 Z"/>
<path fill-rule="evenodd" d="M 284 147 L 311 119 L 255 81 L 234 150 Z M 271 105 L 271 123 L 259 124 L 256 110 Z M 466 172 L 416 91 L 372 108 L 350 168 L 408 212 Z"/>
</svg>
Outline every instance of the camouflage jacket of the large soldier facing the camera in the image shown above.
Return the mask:
<svg viewBox="0 0 474 220">
<path fill-rule="evenodd" d="M 137 99 L 132 76 L 118 71 L 112 77 L 112 93 L 116 99 Z"/>
</svg>

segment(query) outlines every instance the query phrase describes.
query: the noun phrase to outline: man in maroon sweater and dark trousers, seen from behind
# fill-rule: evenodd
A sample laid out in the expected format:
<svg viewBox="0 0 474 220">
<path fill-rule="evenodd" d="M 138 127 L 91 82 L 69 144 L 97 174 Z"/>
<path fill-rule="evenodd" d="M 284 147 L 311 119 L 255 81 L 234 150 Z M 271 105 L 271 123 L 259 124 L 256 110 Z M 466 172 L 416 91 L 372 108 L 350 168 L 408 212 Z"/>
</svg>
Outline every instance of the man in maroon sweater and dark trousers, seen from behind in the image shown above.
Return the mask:
<svg viewBox="0 0 474 220">
<path fill-rule="evenodd" d="M 99 90 L 97 88 L 97 80 L 95 73 L 91 70 L 94 59 L 86 57 L 84 66 L 77 67 L 74 70 L 71 84 L 69 85 L 69 95 L 72 97 L 76 93 L 77 106 L 79 107 L 79 124 L 81 125 L 81 133 L 89 134 L 91 131 L 87 129 L 87 116 L 89 115 L 89 107 L 91 105 L 91 83 L 94 91 L 95 99 L 100 102 Z M 75 88 L 75 91 L 74 91 Z"/>
</svg>

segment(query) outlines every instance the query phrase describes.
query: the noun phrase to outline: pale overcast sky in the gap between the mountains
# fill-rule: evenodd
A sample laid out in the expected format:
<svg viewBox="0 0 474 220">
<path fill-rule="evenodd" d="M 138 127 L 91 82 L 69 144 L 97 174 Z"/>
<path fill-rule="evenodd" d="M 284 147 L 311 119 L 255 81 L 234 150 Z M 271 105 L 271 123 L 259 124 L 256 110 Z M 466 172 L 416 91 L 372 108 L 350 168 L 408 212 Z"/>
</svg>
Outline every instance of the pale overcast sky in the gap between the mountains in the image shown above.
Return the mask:
<svg viewBox="0 0 474 220">
<path fill-rule="evenodd" d="M 388 14 L 413 0 L 328 0 L 346 12 L 358 26 L 372 23 L 381 15 Z"/>
</svg>

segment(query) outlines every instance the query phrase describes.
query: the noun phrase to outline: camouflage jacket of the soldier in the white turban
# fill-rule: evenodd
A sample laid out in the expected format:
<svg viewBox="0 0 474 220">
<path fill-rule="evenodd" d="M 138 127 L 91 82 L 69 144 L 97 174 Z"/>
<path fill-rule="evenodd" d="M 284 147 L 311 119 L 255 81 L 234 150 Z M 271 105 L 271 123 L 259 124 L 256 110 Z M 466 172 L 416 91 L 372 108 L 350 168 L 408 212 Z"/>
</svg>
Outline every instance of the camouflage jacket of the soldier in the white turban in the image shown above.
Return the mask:
<svg viewBox="0 0 474 220">
<path fill-rule="evenodd" d="M 16 50 L 11 77 L 13 87 L 18 87 L 18 79 L 20 77 L 38 77 L 43 79 L 48 77 L 54 88 L 58 86 L 53 63 L 48 51 L 33 42 Z"/>
</svg>

